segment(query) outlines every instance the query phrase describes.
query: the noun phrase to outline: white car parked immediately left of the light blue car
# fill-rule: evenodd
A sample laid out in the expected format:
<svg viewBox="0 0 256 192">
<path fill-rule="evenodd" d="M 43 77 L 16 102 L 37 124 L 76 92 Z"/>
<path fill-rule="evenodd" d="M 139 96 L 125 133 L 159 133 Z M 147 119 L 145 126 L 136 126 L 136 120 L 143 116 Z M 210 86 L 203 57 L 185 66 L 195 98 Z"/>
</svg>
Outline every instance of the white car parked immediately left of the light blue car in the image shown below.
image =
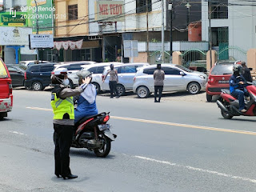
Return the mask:
<svg viewBox="0 0 256 192">
<path fill-rule="evenodd" d="M 92 65 L 82 66 L 82 70 L 89 70 L 92 72 L 92 83 L 96 87 L 97 93 L 100 93 L 102 90 L 102 73 L 105 66 L 110 66 L 113 63 L 114 65 L 122 65 L 122 62 L 97 62 Z"/>
</svg>

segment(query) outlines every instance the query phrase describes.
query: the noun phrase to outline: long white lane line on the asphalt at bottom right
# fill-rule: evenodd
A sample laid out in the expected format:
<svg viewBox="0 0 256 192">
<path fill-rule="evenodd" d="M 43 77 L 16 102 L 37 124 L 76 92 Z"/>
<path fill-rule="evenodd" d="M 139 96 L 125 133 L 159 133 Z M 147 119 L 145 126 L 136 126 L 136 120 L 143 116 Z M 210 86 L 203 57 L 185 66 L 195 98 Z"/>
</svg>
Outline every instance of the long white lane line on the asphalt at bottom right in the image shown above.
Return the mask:
<svg viewBox="0 0 256 192">
<path fill-rule="evenodd" d="M 154 158 L 146 158 L 146 157 L 142 157 L 142 156 L 133 156 L 133 157 L 134 158 L 139 158 L 139 159 L 142 159 L 142 160 L 146 160 L 146 161 L 149 161 L 149 162 L 158 162 L 158 163 L 166 164 L 166 165 L 169 165 L 169 166 L 176 166 L 176 167 L 185 168 L 187 170 L 195 170 L 195 171 L 199 171 L 199 172 L 203 172 L 203 173 L 207 173 L 207 174 L 216 174 L 218 176 L 222 176 L 222 177 L 226 177 L 226 178 L 234 178 L 234 179 L 238 179 L 238 180 L 242 180 L 242 181 L 256 183 L 256 179 L 252 179 L 252 178 L 243 178 L 243 177 L 235 176 L 235 175 L 232 175 L 232 174 L 224 174 L 224 173 L 220 173 L 220 172 L 214 171 L 214 170 L 204 170 L 204 169 L 201 169 L 201 168 L 198 168 L 198 167 L 193 167 L 193 166 L 182 166 L 182 165 L 179 165 L 177 163 L 161 161 L 161 160 L 157 160 L 157 159 L 154 159 Z"/>
</svg>

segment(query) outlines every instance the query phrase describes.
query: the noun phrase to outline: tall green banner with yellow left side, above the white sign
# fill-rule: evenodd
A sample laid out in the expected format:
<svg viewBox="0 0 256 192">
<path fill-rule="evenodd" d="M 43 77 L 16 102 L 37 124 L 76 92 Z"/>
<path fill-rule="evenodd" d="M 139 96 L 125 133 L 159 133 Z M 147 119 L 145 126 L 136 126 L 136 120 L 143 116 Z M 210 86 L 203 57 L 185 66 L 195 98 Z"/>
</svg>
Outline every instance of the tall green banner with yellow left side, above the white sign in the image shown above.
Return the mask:
<svg viewBox="0 0 256 192">
<path fill-rule="evenodd" d="M 38 34 L 54 34 L 52 0 L 27 0 L 26 2 L 28 26 L 33 27 L 33 34 L 36 34 L 37 30 Z"/>
</svg>

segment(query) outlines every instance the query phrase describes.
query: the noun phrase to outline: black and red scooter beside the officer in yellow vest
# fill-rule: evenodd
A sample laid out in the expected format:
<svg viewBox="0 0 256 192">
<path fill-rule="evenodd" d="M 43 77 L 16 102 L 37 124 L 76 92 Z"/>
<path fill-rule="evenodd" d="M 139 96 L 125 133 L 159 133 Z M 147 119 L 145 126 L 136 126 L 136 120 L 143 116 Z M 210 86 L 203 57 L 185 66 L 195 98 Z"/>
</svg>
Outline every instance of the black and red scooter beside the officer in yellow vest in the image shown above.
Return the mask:
<svg viewBox="0 0 256 192">
<path fill-rule="evenodd" d="M 73 137 L 72 147 L 94 150 L 98 157 L 105 158 L 110 153 L 111 142 L 117 137 L 110 131 L 109 113 L 101 113 L 79 120 Z"/>
</svg>

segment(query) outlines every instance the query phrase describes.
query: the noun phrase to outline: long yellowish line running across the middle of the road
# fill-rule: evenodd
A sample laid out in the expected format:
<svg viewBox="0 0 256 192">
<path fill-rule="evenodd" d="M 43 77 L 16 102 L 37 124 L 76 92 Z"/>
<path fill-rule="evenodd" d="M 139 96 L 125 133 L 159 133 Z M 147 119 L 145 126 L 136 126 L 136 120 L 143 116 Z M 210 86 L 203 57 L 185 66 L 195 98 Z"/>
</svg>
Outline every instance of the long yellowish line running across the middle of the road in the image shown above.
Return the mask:
<svg viewBox="0 0 256 192">
<path fill-rule="evenodd" d="M 46 110 L 46 111 L 52 111 L 52 109 L 47 108 L 40 108 L 40 107 L 26 107 L 27 109 L 31 110 Z M 159 121 L 153 121 L 153 120 L 147 120 L 147 119 L 141 119 L 141 118 L 123 118 L 118 116 L 110 116 L 110 118 L 119 119 L 119 120 L 125 120 L 125 121 L 132 121 L 132 122 L 146 122 L 146 123 L 153 123 L 158 125 L 166 125 L 166 126 L 182 126 L 192 129 L 200 129 L 200 130 L 215 130 L 215 131 L 222 131 L 222 132 L 228 132 L 228 133 L 234 133 L 234 134 L 250 134 L 250 135 L 256 135 L 256 132 L 254 131 L 247 131 L 247 130 L 230 130 L 230 129 L 222 129 L 217 127 L 210 127 L 210 126 L 194 126 L 189 124 L 182 124 L 182 123 L 176 123 L 176 122 L 159 122 Z"/>
</svg>

